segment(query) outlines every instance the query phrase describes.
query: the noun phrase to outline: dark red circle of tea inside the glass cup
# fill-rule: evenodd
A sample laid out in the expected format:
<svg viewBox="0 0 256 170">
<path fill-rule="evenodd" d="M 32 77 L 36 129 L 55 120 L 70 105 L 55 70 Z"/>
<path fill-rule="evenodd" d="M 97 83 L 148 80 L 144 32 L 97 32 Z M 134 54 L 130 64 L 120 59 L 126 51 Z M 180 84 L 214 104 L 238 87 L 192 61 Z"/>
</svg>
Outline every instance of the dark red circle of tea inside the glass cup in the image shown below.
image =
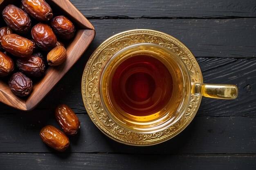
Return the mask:
<svg viewBox="0 0 256 170">
<path fill-rule="evenodd" d="M 169 102 L 173 79 L 168 68 L 155 57 L 135 55 L 117 66 L 110 88 L 116 107 L 131 115 L 147 116 L 159 112 Z"/>
</svg>

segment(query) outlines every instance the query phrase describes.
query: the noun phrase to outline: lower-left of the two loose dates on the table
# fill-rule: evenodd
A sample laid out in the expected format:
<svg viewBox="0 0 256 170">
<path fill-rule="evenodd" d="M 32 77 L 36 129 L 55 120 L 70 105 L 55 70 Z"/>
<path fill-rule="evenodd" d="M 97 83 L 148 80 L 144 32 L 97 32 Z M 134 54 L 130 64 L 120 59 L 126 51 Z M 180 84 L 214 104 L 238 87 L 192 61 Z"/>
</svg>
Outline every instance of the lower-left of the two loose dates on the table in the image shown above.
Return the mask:
<svg viewBox="0 0 256 170">
<path fill-rule="evenodd" d="M 70 145 L 68 137 L 51 125 L 43 127 L 39 135 L 45 144 L 58 151 L 64 151 Z"/>
</svg>

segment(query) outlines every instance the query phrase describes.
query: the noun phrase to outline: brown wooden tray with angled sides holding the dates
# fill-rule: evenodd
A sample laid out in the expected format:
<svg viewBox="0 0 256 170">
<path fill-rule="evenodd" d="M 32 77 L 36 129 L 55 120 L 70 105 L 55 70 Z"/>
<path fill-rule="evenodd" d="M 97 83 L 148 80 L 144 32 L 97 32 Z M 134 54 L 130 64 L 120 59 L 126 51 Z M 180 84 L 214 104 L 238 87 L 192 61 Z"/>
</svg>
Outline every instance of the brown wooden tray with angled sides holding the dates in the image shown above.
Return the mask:
<svg viewBox="0 0 256 170">
<path fill-rule="evenodd" d="M 67 60 L 65 63 L 58 67 L 49 67 L 45 76 L 33 84 L 33 91 L 28 97 L 17 97 L 10 91 L 7 82 L 0 79 L 0 102 L 20 110 L 31 110 L 35 108 L 81 57 L 95 36 L 92 24 L 69 0 L 46 1 L 52 7 L 54 16 L 63 14 L 74 23 L 76 35 L 66 46 Z M 0 0 L 0 11 L 8 4 L 19 6 L 20 1 L 17 3 L 16 0 Z M 0 18 L 0 27 L 2 27 L 5 25 L 5 22 L 2 20 L 2 17 Z"/>
</svg>

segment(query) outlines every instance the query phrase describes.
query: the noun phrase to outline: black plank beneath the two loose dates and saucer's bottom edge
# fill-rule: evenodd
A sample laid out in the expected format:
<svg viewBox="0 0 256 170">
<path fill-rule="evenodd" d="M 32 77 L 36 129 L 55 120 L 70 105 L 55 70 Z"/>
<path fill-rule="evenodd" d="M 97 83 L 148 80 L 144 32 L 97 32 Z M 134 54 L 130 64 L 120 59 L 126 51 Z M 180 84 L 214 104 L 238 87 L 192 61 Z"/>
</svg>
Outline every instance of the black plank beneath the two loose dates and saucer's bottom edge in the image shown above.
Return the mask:
<svg viewBox="0 0 256 170">
<path fill-rule="evenodd" d="M 195 117 L 179 135 L 162 144 L 134 147 L 106 137 L 88 115 L 78 115 L 81 130 L 70 137 L 74 153 L 132 154 L 256 154 L 256 117 Z M 56 152 L 42 142 L 45 125 L 58 126 L 53 111 L 0 115 L 1 152 Z"/>
</svg>

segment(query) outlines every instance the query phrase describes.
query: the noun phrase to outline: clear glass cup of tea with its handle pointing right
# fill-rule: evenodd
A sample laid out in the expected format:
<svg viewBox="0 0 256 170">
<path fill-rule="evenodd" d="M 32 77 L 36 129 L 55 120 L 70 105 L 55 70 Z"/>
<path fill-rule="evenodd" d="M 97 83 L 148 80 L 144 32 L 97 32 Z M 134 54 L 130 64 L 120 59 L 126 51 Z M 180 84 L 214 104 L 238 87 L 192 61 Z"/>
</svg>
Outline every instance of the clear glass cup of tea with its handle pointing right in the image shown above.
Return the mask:
<svg viewBox="0 0 256 170">
<path fill-rule="evenodd" d="M 133 44 L 115 53 L 99 77 L 100 103 L 110 119 L 136 133 L 154 133 L 175 124 L 192 96 L 235 99 L 230 84 L 191 82 L 187 66 L 170 49 Z"/>
</svg>

